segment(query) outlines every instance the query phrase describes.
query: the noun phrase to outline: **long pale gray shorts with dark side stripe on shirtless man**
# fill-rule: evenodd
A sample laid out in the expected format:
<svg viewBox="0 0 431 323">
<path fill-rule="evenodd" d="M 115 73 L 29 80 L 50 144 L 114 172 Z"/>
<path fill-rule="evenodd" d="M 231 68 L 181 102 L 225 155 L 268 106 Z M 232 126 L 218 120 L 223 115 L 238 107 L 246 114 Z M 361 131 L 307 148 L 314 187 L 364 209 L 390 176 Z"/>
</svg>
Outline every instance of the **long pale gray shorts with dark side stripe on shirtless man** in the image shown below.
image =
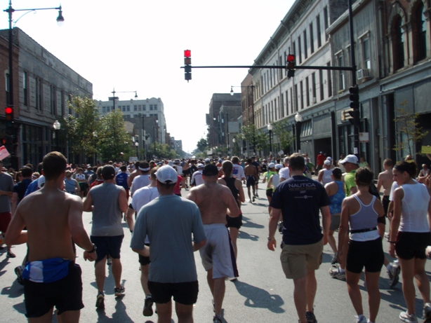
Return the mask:
<svg viewBox="0 0 431 323">
<path fill-rule="evenodd" d="M 206 245 L 199 249 L 206 271 L 213 268 L 213 279 L 238 277 L 237 262 L 225 224 L 204 224 Z"/>
</svg>

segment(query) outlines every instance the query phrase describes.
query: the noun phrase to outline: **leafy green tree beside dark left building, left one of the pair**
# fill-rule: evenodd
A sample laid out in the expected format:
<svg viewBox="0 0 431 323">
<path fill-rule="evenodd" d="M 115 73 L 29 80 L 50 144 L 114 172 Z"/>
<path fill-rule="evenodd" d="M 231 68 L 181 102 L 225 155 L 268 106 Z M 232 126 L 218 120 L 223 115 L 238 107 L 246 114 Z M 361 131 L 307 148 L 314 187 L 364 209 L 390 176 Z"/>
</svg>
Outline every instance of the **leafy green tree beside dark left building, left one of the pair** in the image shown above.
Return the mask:
<svg viewBox="0 0 431 323">
<path fill-rule="evenodd" d="M 69 142 L 72 153 L 91 156 L 96 146 L 93 133 L 98 132 L 100 120 L 95 100 L 88 97 L 72 97 L 67 107 L 74 111 L 74 115 L 64 116 L 60 119 L 62 141 Z"/>
</svg>

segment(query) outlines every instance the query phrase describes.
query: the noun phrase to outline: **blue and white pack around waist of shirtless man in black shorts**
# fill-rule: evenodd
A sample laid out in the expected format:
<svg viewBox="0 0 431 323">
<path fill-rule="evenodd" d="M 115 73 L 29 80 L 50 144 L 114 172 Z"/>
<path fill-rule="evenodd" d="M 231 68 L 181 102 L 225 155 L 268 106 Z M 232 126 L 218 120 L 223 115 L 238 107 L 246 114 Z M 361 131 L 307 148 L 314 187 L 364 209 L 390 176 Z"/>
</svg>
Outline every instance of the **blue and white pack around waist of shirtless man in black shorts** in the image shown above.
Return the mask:
<svg viewBox="0 0 431 323">
<path fill-rule="evenodd" d="M 69 259 L 51 258 L 27 262 L 22 277 L 32 282 L 55 282 L 69 273 Z"/>
</svg>

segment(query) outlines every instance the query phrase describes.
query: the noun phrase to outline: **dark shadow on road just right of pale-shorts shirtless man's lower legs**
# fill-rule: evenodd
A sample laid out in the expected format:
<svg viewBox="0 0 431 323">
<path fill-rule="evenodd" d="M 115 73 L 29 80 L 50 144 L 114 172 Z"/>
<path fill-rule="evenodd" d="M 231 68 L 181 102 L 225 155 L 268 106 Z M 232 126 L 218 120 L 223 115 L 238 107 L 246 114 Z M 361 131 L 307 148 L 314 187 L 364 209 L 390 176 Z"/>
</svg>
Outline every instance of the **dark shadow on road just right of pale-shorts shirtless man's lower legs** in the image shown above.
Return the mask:
<svg viewBox="0 0 431 323">
<path fill-rule="evenodd" d="M 246 298 L 244 305 L 250 308 L 267 308 L 274 313 L 284 312 L 284 309 L 281 308 L 284 301 L 279 295 L 270 294 L 265 289 L 260 289 L 239 280 L 236 280 L 234 285 L 239 294 Z"/>
</svg>

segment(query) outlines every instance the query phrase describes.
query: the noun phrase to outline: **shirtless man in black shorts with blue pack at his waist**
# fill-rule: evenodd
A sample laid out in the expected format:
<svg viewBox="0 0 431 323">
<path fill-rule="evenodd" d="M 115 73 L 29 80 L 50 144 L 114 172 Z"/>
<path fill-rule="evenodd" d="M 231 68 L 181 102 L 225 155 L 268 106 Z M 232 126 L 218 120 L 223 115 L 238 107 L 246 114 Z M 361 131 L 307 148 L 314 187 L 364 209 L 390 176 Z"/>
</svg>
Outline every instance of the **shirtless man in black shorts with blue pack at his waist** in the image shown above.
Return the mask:
<svg viewBox="0 0 431 323">
<path fill-rule="evenodd" d="M 22 276 L 29 322 L 51 322 L 54 306 L 59 321 L 79 322 L 80 310 L 84 308 L 81 268 L 74 262 L 72 239 L 87 250 L 86 260 L 96 259 L 95 246 L 82 223 L 81 198 L 62 191 L 66 158 L 53 151 L 44 157 L 43 167 L 44 187 L 20 202 L 5 239 L 11 245 L 28 244 L 29 262 Z M 46 212 L 48 209 L 55 209 L 55 217 Z M 22 231 L 24 227 L 28 235 Z M 43 281 L 37 269 L 44 271 Z"/>
</svg>

